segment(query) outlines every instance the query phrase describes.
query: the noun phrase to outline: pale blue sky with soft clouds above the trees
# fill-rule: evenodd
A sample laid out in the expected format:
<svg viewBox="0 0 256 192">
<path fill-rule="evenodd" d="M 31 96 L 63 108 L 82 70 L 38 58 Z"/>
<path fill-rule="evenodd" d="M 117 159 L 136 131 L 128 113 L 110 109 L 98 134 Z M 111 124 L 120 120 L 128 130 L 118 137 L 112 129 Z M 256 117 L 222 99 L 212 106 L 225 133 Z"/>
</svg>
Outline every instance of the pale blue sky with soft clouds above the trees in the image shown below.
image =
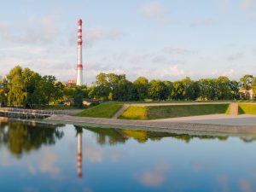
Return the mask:
<svg viewBox="0 0 256 192">
<path fill-rule="evenodd" d="M 0 76 L 20 65 L 75 79 L 79 18 L 87 84 L 100 72 L 256 75 L 256 0 L 9 0 L 0 6 Z"/>
</svg>

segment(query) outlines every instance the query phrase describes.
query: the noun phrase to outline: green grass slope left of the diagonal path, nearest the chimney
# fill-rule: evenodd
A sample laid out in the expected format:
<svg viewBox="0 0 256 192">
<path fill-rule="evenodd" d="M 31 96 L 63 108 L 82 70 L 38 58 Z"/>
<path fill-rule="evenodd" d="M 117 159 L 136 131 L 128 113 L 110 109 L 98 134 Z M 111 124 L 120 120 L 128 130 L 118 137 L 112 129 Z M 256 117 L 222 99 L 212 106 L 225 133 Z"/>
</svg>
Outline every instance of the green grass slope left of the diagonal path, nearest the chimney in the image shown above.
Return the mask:
<svg viewBox="0 0 256 192">
<path fill-rule="evenodd" d="M 122 104 L 115 102 L 102 103 L 75 114 L 79 117 L 112 118 L 122 108 Z"/>
</svg>

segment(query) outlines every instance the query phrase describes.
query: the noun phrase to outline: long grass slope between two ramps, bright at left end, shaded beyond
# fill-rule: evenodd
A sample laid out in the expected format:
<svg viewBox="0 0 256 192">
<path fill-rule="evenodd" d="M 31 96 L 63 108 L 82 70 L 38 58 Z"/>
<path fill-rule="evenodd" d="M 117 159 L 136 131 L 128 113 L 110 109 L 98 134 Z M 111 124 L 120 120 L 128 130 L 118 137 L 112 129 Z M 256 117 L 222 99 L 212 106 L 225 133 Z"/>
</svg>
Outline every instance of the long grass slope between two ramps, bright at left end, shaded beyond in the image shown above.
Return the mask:
<svg viewBox="0 0 256 192">
<path fill-rule="evenodd" d="M 227 113 L 229 104 L 177 105 L 177 106 L 131 106 L 119 119 L 165 119 L 204 114 Z"/>
</svg>

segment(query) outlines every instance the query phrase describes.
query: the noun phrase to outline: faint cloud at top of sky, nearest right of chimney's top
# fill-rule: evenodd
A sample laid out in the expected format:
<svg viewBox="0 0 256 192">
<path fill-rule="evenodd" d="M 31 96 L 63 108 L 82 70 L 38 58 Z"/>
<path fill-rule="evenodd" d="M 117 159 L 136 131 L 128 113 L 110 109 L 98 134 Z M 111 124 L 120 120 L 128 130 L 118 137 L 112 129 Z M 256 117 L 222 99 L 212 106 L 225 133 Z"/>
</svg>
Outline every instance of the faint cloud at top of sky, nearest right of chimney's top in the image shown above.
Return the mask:
<svg viewBox="0 0 256 192">
<path fill-rule="evenodd" d="M 148 19 L 160 22 L 160 24 L 168 24 L 170 19 L 166 15 L 166 9 L 159 2 L 151 2 L 143 4 L 140 8 L 142 15 Z"/>
</svg>

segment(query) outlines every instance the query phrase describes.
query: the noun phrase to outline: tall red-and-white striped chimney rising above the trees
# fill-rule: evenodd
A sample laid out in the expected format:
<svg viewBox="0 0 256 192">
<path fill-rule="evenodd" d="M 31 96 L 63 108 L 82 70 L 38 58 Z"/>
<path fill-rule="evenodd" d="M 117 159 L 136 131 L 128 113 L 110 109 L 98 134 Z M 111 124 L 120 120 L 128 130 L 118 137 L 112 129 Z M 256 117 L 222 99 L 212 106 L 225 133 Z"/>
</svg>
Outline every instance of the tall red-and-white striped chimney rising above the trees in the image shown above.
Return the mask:
<svg viewBox="0 0 256 192">
<path fill-rule="evenodd" d="M 83 61 L 82 61 L 82 20 L 78 21 L 78 59 L 77 59 L 77 85 L 83 84 Z"/>
</svg>

